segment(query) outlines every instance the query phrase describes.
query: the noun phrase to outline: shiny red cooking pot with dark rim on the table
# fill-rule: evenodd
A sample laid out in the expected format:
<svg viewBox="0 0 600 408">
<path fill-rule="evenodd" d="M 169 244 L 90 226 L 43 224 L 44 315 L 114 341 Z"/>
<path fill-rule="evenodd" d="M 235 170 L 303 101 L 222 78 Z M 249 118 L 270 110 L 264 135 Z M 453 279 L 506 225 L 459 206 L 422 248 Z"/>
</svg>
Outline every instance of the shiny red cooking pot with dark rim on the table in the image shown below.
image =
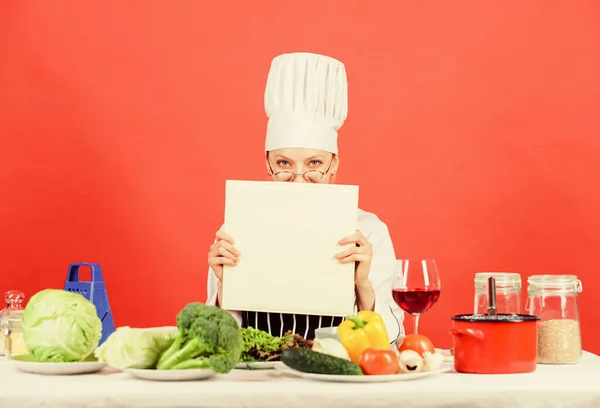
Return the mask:
<svg viewBox="0 0 600 408">
<path fill-rule="evenodd" d="M 535 371 L 537 316 L 521 314 L 452 317 L 454 369 L 471 374 L 515 374 Z"/>
</svg>

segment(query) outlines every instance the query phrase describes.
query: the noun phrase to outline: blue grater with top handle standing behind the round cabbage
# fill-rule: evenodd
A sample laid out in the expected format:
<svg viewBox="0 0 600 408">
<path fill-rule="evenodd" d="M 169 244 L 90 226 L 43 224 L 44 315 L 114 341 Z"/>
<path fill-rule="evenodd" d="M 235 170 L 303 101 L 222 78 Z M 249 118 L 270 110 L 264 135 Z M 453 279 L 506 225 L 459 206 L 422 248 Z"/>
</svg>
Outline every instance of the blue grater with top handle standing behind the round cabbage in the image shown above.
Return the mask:
<svg viewBox="0 0 600 408">
<path fill-rule="evenodd" d="M 79 281 L 79 268 L 87 266 L 92 269 L 92 278 L 90 282 Z M 98 264 L 91 263 L 73 263 L 69 266 L 69 274 L 65 282 L 65 288 L 68 292 L 79 293 L 96 306 L 96 313 L 102 321 L 102 338 L 100 344 L 104 343 L 106 338 L 115 331 L 115 322 L 110 311 L 106 286 L 102 277 L 102 269 Z"/>
</svg>

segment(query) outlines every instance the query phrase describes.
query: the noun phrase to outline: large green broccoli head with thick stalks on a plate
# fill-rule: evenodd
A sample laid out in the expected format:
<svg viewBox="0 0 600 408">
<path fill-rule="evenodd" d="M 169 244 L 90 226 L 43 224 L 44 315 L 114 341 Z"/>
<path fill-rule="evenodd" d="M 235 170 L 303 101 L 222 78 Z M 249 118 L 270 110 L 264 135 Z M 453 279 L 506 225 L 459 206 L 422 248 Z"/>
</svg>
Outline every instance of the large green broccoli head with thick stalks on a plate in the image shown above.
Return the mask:
<svg viewBox="0 0 600 408">
<path fill-rule="evenodd" d="M 240 361 L 242 333 L 226 310 L 190 303 L 177 315 L 179 334 L 159 358 L 158 370 L 208 368 L 228 373 Z"/>
</svg>

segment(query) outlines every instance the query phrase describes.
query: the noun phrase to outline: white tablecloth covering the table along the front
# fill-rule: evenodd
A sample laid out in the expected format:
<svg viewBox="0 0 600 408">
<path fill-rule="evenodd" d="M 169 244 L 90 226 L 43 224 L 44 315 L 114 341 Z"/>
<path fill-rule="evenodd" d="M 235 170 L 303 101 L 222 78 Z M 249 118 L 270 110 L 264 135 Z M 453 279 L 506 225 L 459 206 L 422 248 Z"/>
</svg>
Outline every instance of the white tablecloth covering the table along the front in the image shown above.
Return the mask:
<svg viewBox="0 0 600 408">
<path fill-rule="evenodd" d="M 0 407 L 599 408 L 600 357 L 539 365 L 532 374 L 454 372 L 394 383 L 322 383 L 277 370 L 234 370 L 195 382 L 148 382 L 121 372 L 40 376 L 0 362 Z"/>
</svg>

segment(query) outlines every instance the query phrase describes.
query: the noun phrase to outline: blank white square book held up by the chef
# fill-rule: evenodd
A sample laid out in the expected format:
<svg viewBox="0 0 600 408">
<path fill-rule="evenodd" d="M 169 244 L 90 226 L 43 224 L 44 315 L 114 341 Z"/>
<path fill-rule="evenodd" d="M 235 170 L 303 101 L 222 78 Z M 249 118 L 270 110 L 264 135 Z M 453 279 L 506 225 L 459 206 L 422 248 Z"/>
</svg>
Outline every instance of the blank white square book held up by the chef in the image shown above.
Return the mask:
<svg viewBox="0 0 600 408">
<path fill-rule="evenodd" d="M 354 262 L 334 256 L 357 229 L 358 186 L 226 182 L 225 223 L 240 251 L 223 271 L 228 310 L 347 316 Z"/>
</svg>

